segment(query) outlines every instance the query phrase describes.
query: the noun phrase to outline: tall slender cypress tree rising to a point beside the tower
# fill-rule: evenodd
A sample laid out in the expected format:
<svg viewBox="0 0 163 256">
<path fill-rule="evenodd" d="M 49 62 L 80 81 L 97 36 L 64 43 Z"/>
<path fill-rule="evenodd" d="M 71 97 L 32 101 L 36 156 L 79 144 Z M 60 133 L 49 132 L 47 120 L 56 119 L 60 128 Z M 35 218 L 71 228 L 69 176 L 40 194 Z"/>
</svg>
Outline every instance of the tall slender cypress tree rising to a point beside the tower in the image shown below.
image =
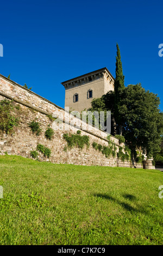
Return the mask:
<svg viewBox="0 0 163 256">
<path fill-rule="evenodd" d="M 121 94 L 124 87 L 124 75 L 122 70 L 121 53 L 117 44 L 117 56 L 116 56 L 116 78 L 115 78 L 115 102 L 114 102 L 114 116 L 116 122 L 117 133 L 122 135 L 122 120 L 120 115 L 121 108 Z"/>
</svg>

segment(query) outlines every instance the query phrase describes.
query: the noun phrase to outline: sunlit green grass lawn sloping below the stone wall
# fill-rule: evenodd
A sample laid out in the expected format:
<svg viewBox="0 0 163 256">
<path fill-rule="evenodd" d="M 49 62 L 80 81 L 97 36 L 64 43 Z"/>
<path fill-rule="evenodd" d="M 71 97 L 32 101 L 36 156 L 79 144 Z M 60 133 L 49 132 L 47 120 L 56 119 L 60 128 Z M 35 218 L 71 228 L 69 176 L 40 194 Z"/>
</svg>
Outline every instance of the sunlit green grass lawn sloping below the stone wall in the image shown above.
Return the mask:
<svg viewBox="0 0 163 256">
<path fill-rule="evenodd" d="M 159 170 L 0 157 L 0 245 L 162 245 Z"/>
</svg>

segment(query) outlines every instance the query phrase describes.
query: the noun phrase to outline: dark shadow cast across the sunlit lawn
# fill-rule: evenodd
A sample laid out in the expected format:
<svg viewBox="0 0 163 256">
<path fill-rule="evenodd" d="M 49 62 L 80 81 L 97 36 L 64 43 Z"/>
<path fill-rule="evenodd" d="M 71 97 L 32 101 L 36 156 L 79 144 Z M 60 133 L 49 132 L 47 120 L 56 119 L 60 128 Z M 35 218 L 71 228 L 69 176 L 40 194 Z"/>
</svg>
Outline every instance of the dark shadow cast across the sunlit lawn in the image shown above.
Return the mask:
<svg viewBox="0 0 163 256">
<path fill-rule="evenodd" d="M 129 205 L 128 203 L 124 203 L 124 202 L 121 202 L 120 200 L 114 198 L 114 197 L 111 197 L 109 196 L 108 194 L 94 194 L 95 197 L 98 197 L 98 198 L 103 198 L 103 199 L 107 199 L 107 200 L 111 200 L 115 203 L 118 203 L 120 204 L 124 209 L 130 211 L 130 212 L 142 212 L 144 214 L 147 214 L 147 211 L 145 210 L 145 208 L 142 208 L 142 206 L 140 205 L 137 205 L 137 208 L 134 208 L 133 206 Z M 123 194 L 123 197 L 125 199 L 129 199 L 130 201 L 133 201 L 133 200 L 136 200 L 136 197 L 131 195 L 131 194 Z"/>
</svg>

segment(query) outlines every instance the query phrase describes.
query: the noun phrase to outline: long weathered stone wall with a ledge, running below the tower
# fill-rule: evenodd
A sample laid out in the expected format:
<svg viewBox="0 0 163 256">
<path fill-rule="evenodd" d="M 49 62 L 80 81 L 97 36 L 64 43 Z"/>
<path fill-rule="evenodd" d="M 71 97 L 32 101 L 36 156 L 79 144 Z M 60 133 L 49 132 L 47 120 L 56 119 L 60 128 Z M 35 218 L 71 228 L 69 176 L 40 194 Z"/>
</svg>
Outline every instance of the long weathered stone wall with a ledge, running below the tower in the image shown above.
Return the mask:
<svg viewBox="0 0 163 256">
<path fill-rule="evenodd" d="M 31 157 L 30 151 L 36 150 L 37 144 L 43 144 L 52 151 L 52 155 L 49 159 L 39 153 L 39 159 L 41 161 L 51 161 L 52 163 L 71 163 L 82 164 L 87 166 L 127 166 L 133 167 L 130 162 L 121 162 L 117 160 L 117 157 L 110 156 L 106 158 L 101 152 L 92 147 L 92 142 L 96 142 L 101 145 L 108 145 L 108 133 L 87 125 L 85 122 L 79 122 L 78 118 L 74 118 L 70 115 L 69 120 L 67 114 L 63 108 L 58 107 L 54 103 L 44 99 L 43 97 L 31 92 L 30 90 L 20 86 L 19 84 L 9 80 L 8 78 L 0 75 L 0 100 L 13 99 L 16 105 L 20 105 L 20 109 L 17 111 L 17 116 L 20 118 L 19 125 L 14 127 L 14 133 L 12 135 L 1 135 L 0 151 L 1 154 L 7 152 L 12 155 L 21 155 L 24 157 Z M 64 119 L 64 130 L 60 130 L 60 124 L 58 129 L 54 131 L 54 136 L 51 141 L 46 139 L 45 131 L 48 127 L 54 127 L 54 121 L 49 118 L 49 115 L 53 115 L 57 118 Z M 29 123 L 33 120 L 37 120 L 41 125 L 41 133 L 36 136 L 32 133 Z M 73 125 L 75 123 L 76 126 Z M 86 127 L 85 130 L 81 130 L 81 135 L 87 135 L 90 138 L 90 148 L 86 146 L 83 150 L 79 148 L 72 148 L 71 150 L 64 151 L 67 146 L 67 142 L 64 140 L 64 133 L 76 133 L 77 130 Z M 118 146 L 118 139 L 111 136 L 111 140 Z M 121 144 L 124 147 L 124 144 Z M 117 147 L 118 151 L 118 147 Z"/>
</svg>

